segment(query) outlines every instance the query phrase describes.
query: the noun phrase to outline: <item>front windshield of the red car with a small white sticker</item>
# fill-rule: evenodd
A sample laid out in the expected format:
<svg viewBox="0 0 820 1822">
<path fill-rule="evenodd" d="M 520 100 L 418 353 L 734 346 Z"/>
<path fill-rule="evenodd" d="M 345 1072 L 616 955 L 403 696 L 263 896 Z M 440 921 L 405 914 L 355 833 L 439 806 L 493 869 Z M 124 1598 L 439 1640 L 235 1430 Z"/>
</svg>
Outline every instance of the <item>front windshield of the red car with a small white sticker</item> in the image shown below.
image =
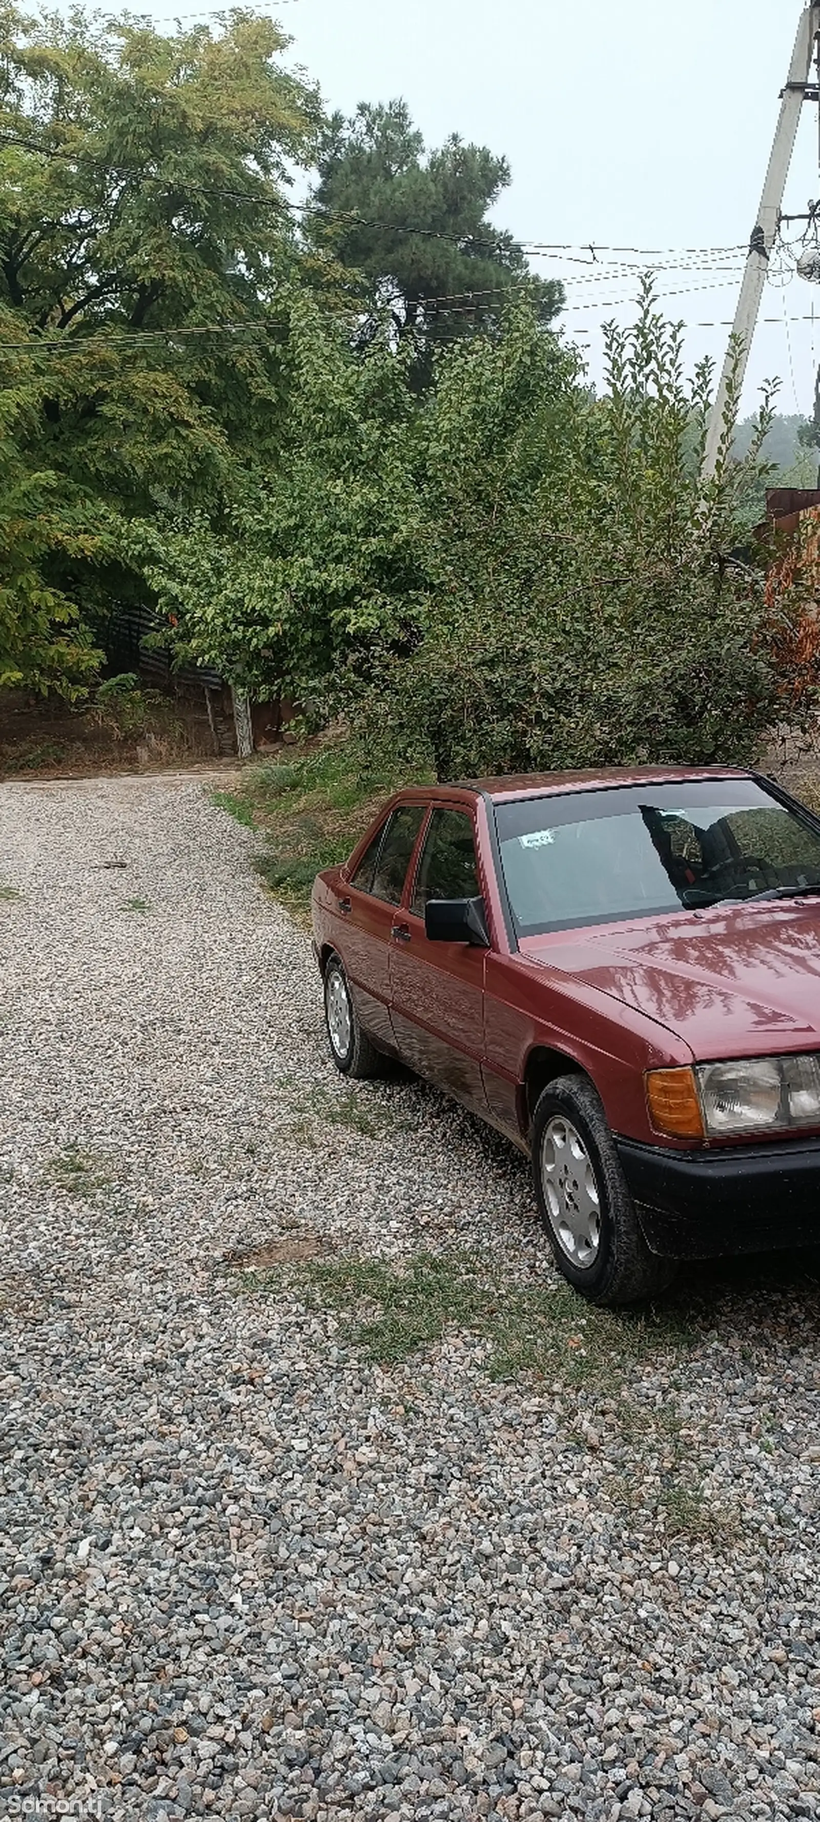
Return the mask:
<svg viewBox="0 0 820 1822">
<path fill-rule="evenodd" d="M 820 833 L 753 778 L 521 798 L 496 818 L 519 937 L 820 887 Z"/>
</svg>

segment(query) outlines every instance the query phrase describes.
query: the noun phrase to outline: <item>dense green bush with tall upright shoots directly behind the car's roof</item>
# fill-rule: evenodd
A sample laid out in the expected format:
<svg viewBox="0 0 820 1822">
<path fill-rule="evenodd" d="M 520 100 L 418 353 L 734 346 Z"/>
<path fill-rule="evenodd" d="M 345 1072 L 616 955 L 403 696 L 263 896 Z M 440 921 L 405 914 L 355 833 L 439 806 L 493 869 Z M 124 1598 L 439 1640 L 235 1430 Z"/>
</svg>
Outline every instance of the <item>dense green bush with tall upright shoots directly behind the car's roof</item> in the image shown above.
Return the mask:
<svg viewBox="0 0 820 1822">
<path fill-rule="evenodd" d="M 607 394 L 518 312 L 501 343 L 452 353 L 430 412 L 423 634 L 368 654 L 357 714 L 439 776 L 749 760 L 782 678 L 764 552 L 743 503 L 758 439 L 700 479 L 709 372 L 683 381 L 680 330 L 647 286 L 609 330 Z M 547 339 L 548 341 L 548 339 Z M 815 680 L 816 689 L 816 680 Z"/>
</svg>

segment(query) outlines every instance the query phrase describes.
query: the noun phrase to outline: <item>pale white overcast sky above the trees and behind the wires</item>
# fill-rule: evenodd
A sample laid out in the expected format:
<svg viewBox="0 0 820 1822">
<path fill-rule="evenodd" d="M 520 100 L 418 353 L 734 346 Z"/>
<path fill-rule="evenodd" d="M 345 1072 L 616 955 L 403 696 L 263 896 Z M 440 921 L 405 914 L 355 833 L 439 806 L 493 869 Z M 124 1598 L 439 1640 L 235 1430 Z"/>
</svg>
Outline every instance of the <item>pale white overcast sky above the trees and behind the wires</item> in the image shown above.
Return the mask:
<svg viewBox="0 0 820 1822">
<path fill-rule="evenodd" d="M 149 7 L 166 22 L 171 7 Z M 598 246 L 745 248 L 778 115 L 800 0 L 286 0 L 290 58 L 319 80 L 326 106 L 405 97 L 430 146 L 457 131 L 505 153 L 512 186 L 494 220 L 521 241 Z M 785 210 L 820 195 L 818 109 L 805 102 Z M 798 230 L 791 230 L 793 233 Z M 576 259 L 581 257 L 576 251 Z M 601 255 L 603 257 L 603 255 Z M 636 255 L 627 255 L 634 259 Z M 685 255 L 660 277 L 665 310 L 691 324 L 687 357 L 723 357 L 742 253 Z M 692 264 L 689 264 L 689 261 Z M 733 266 L 733 261 L 738 262 Z M 712 266 L 729 262 L 729 271 Z M 589 337 L 600 377 L 600 319 L 634 295 L 630 273 L 545 259 L 572 279 L 570 333 Z M 640 266 L 640 261 L 638 261 Z M 703 266 L 707 270 L 703 270 Z M 791 275 L 791 266 L 789 273 Z M 698 286 L 698 290 L 694 290 Z M 592 308 L 581 308 L 592 304 Z M 816 313 L 816 326 L 804 315 Z M 764 377 L 778 408 L 811 415 L 820 361 L 820 286 L 769 282 L 743 408 Z M 698 328 L 696 324 L 716 324 Z"/>
</svg>

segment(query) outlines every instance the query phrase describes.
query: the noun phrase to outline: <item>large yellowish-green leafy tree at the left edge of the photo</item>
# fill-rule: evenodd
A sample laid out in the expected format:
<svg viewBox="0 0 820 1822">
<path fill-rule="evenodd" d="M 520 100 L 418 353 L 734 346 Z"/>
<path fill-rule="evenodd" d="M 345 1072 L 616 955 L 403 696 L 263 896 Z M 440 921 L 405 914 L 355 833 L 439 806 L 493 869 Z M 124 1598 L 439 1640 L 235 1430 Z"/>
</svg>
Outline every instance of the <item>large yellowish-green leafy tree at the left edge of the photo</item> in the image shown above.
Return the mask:
<svg viewBox="0 0 820 1822">
<path fill-rule="evenodd" d="M 7 459 L 18 499 L 58 477 L 84 530 L 36 558 L 42 601 L 82 627 L 146 592 L 129 521 L 219 517 L 237 465 L 277 450 L 304 277 L 286 182 L 321 113 L 246 11 L 166 36 L 7 7 L 0 29 L 0 399 L 26 425 Z"/>
</svg>

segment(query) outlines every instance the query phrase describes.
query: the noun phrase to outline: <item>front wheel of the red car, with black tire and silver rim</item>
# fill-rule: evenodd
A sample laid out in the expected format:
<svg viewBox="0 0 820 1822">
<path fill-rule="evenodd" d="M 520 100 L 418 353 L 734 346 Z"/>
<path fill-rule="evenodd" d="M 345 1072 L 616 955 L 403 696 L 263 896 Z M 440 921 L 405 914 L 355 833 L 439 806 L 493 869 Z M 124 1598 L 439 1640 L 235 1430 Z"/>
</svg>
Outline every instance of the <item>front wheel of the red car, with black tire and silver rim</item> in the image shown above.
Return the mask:
<svg viewBox="0 0 820 1822">
<path fill-rule="evenodd" d="M 556 1264 L 581 1297 L 616 1308 L 671 1285 L 676 1263 L 643 1239 L 601 1099 L 585 1075 L 561 1075 L 543 1090 L 532 1175 Z"/>
</svg>

